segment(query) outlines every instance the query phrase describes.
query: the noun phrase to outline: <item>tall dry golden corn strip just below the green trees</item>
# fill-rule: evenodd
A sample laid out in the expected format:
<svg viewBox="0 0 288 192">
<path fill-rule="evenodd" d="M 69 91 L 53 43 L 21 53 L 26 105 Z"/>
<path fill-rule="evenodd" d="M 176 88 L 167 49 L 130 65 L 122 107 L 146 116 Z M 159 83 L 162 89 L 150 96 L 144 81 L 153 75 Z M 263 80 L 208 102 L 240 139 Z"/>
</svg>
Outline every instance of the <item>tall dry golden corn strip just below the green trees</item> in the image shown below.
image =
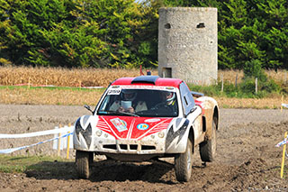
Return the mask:
<svg viewBox="0 0 288 192">
<path fill-rule="evenodd" d="M 150 69 L 152 75 L 157 75 L 157 69 Z M 142 70 L 144 73 L 146 69 Z M 287 71 L 266 70 L 269 78 L 278 83 L 287 82 Z M 223 76 L 224 81 L 241 82 L 244 74 L 241 70 L 219 70 L 218 81 Z M 112 80 L 121 77 L 137 77 L 139 69 L 62 69 L 62 68 L 27 68 L 0 67 L 0 85 L 17 84 L 54 85 L 59 87 L 78 87 L 79 82 L 86 87 L 107 87 Z"/>
</svg>

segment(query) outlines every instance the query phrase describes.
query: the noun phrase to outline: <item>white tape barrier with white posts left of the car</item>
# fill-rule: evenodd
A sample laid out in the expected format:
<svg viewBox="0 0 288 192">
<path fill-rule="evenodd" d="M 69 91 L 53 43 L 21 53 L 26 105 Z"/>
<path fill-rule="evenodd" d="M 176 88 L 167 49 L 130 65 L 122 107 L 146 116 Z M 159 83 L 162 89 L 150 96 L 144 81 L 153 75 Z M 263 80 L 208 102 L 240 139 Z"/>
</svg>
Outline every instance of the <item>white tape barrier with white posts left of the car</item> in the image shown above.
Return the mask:
<svg viewBox="0 0 288 192">
<path fill-rule="evenodd" d="M 37 142 L 31 145 L 25 145 L 22 147 L 15 147 L 15 148 L 11 148 L 11 149 L 4 149 L 4 150 L 0 150 L 0 154 L 1 153 L 12 153 L 14 151 L 19 151 L 19 150 L 23 150 L 35 145 L 39 145 L 41 143 L 45 143 L 45 142 L 51 142 L 54 141 L 53 143 L 53 148 L 55 145 L 55 142 L 58 143 L 60 138 L 61 139 L 61 149 L 65 148 L 67 146 L 67 136 L 72 135 L 74 132 L 74 126 L 65 126 L 63 128 L 58 128 L 55 127 L 54 130 L 47 130 L 47 131 L 42 131 L 42 132 L 36 132 L 36 133 L 22 133 L 22 134 L 0 134 L 0 139 L 11 139 L 11 138 L 26 138 L 26 137 L 36 137 L 36 136 L 43 136 L 43 135 L 48 135 L 48 134 L 56 134 L 56 136 L 52 139 L 46 140 L 44 142 Z M 60 133 L 61 135 L 58 136 L 58 133 Z M 73 139 L 70 138 L 70 148 L 73 148 Z M 66 145 L 64 144 L 66 142 Z M 58 145 L 58 144 L 56 144 Z M 57 149 L 57 148 L 56 148 Z"/>
</svg>

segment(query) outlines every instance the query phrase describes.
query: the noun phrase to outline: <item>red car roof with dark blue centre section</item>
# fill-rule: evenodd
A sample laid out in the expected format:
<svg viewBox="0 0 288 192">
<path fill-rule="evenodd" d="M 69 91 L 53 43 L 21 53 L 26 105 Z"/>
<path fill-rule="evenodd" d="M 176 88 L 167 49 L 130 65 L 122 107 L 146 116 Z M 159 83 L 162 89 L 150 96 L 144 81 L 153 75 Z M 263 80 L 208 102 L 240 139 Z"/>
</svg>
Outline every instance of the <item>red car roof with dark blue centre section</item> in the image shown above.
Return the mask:
<svg viewBox="0 0 288 192">
<path fill-rule="evenodd" d="M 143 86 L 166 86 L 179 87 L 183 80 L 178 78 L 159 78 L 158 76 L 139 76 L 137 78 L 118 78 L 112 82 L 112 86 L 143 85 Z"/>
</svg>

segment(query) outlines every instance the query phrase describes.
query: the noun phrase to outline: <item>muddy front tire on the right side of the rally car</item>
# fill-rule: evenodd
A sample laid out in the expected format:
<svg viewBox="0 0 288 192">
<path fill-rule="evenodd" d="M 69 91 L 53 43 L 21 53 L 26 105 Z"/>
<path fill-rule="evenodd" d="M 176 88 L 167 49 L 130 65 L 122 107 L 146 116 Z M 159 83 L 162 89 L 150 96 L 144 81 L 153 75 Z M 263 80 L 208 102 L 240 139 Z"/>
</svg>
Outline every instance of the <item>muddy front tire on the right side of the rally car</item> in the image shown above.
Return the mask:
<svg viewBox="0 0 288 192">
<path fill-rule="evenodd" d="M 188 139 L 186 151 L 175 156 L 175 176 L 180 182 L 186 182 L 192 173 L 192 142 Z"/>
</svg>

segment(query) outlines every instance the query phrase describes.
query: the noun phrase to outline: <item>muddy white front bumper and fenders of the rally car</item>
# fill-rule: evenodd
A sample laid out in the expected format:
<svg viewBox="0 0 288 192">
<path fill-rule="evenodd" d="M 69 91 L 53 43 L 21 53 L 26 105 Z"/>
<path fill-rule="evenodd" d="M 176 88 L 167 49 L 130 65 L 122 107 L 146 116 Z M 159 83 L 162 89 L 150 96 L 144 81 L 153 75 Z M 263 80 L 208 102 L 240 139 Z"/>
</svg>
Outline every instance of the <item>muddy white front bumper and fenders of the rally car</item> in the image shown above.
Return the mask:
<svg viewBox="0 0 288 192">
<path fill-rule="evenodd" d="M 82 116 L 75 123 L 74 149 L 109 154 L 167 154 L 182 153 L 186 149 L 188 123 L 184 118 L 174 119 L 157 133 L 141 136 L 140 139 L 116 138 L 106 129 L 98 129 L 97 116 Z"/>
</svg>

